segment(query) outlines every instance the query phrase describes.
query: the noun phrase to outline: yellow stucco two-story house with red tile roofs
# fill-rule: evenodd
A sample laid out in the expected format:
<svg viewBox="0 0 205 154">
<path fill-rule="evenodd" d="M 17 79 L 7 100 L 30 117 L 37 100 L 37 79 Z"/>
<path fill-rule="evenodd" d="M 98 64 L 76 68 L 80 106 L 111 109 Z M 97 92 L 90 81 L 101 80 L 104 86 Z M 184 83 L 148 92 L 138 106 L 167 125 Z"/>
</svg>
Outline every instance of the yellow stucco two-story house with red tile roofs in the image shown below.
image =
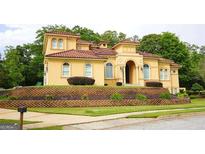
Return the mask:
<svg viewBox="0 0 205 154">
<path fill-rule="evenodd" d="M 95 85 L 144 86 L 158 81 L 170 92 L 179 92 L 179 65 L 172 60 L 137 51 L 139 42 L 123 40 L 112 48 L 107 42 L 93 44 L 67 32 L 44 37 L 44 85 L 68 85 L 67 78 L 86 76 Z"/>
</svg>

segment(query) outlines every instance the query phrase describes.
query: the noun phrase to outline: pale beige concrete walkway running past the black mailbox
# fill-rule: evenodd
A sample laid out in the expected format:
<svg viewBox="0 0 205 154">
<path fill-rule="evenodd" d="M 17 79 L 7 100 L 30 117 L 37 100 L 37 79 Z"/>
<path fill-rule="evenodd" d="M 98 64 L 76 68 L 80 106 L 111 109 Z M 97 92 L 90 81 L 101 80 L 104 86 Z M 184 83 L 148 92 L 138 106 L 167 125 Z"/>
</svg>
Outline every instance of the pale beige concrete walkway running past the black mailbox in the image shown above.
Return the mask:
<svg viewBox="0 0 205 154">
<path fill-rule="evenodd" d="M 192 108 L 192 109 L 199 109 L 199 108 Z M 172 111 L 176 111 L 176 110 L 186 110 L 186 109 L 172 109 Z M 59 126 L 74 125 L 74 124 L 90 123 L 90 122 L 105 121 L 105 120 L 112 120 L 112 119 L 121 119 L 121 118 L 126 118 L 129 115 L 162 112 L 162 111 L 170 111 L 170 110 L 131 112 L 131 113 L 113 114 L 107 116 L 98 116 L 98 117 L 27 112 L 24 114 L 24 120 L 41 121 L 41 123 L 24 125 L 24 129 L 42 128 L 42 127 L 57 126 L 57 125 Z M 19 113 L 16 110 L 0 109 L 0 119 L 18 120 Z"/>
</svg>

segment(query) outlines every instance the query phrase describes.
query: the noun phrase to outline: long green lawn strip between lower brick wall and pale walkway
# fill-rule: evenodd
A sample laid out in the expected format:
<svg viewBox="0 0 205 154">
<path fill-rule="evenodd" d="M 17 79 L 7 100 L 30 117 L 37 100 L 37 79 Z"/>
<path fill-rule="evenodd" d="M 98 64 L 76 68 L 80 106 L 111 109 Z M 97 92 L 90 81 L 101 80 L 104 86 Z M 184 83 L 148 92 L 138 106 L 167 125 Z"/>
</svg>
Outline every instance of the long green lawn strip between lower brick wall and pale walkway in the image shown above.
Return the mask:
<svg viewBox="0 0 205 154">
<path fill-rule="evenodd" d="M 29 108 L 28 110 L 34 112 L 56 113 L 56 114 L 102 116 L 102 115 L 138 112 L 138 111 L 184 109 L 184 108 L 196 108 L 196 107 L 205 107 L 205 99 L 193 99 L 192 103 L 190 104 L 179 104 L 179 105 L 84 107 L 84 108 Z"/>
</svg>

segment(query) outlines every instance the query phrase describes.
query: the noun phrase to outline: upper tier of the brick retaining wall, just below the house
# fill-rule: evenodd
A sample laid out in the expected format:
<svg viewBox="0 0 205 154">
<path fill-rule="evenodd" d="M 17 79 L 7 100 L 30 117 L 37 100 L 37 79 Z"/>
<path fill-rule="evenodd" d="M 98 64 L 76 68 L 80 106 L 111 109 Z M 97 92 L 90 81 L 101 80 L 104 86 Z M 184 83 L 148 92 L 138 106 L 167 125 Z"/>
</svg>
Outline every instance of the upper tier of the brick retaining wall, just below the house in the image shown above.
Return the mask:
<svg viewBox="0 0 205 154">
<path fill-rule="evenodd" d="M 89 100 L 110 99 L 114 93 L 120 93 L 125 99 L 134 99 L 136 94 L 146 95 L 148 98 L 157 98 L 160 93 L 169 92 L 166 88 L 136 88 L 136 87 L 23 87 L 10 91 L 10 96 L 19 99 L 44 99 L 46 95 L 54 99 L 78 100 L 87 95 Z"/>
</svg>

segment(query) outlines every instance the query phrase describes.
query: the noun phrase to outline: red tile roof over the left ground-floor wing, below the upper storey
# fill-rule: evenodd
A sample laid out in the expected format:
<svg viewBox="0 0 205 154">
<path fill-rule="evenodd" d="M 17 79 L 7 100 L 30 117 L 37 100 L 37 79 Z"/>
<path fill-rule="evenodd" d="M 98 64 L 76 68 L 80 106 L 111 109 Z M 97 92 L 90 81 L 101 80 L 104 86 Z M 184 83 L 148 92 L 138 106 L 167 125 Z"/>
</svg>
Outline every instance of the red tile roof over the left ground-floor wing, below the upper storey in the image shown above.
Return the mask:
<svg viewBox="0 0 205 154">
<path fill-rule="evenodd" d="M 88 58 L 88 59 L 105 59 L 97 55 L 92 50 L 67 50 L 46 55 L 46 57 L 61 57 L 61 58 Z"/>
</svg>

